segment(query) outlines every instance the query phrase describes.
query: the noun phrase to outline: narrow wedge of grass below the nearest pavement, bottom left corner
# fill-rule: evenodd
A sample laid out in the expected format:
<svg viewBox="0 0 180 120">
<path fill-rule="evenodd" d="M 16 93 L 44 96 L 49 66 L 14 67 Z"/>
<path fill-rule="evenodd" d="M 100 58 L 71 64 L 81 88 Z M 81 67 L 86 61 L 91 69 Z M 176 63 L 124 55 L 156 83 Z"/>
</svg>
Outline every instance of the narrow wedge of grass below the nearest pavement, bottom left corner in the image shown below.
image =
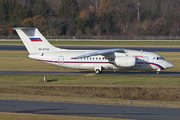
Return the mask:
<svg viewBox="0 0 180 120">
<path fill-rule="evenodd" d="M 60 116 L 60 115 L 0 113 L 0 120 L 117 120 L 117 119 L 100 118 L 100 117 L 97 118 L 97 117 L 76 117 L 76 116 Z"/>
</svg>

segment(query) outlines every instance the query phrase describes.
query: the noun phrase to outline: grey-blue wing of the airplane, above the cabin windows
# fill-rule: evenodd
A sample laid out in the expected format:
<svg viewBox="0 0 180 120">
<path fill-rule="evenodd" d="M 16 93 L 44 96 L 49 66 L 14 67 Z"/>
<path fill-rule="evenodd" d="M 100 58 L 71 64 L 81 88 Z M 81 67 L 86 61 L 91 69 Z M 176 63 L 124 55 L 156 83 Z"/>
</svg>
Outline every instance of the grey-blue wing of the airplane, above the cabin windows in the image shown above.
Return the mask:
<svg viewBox="0 0 180 120">
<path fill-rule="evenodd" d="M 91 53 L 87 53 L 84 55 L 80 55 L 77 57 L 73 57 L 72 59 L 79 59 L 79 58 L 84 58 L 84 57 L 90 57 L 90 56 L 96 56 L 96 55 L 105 55 L 113 52 L 121 52 L 124 51 L 123 49 L 108 49 L 108 50 L 97 50 Z"/>
</svg>

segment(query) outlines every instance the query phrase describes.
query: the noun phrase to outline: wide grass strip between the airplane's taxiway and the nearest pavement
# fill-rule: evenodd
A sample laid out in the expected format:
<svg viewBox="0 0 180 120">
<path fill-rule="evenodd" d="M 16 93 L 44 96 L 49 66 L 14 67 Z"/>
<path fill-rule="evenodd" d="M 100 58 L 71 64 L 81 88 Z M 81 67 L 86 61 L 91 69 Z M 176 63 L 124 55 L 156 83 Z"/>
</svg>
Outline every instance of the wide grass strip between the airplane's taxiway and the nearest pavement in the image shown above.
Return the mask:
<svg viewBox="0 0 180 120">
<path fill-rule="evenodd" d="M 178 77 L 48 76 L 48 80 L 0 75 L 0 99 L 180 108 Z"/>
</svg>

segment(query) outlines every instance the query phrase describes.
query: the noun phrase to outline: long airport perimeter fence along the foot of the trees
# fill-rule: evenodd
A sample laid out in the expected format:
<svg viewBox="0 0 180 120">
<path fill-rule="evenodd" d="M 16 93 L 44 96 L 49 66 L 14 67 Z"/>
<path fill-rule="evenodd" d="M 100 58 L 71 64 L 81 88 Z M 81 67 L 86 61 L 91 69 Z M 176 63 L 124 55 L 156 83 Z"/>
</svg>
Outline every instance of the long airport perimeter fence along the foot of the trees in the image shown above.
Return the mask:
<svg viewBox="0 0 180 120">
<path fill-rule="evenodd" d="M 51 36 L 47 37 L 50 40 L 180 40 L 180 36 L 125 36 L 125 35 L 100 35 L 100 36 L 93 36 L 93 35 L 80 35 L 80 36 Z M 0 40 L 2 39 L 19 39 L 19 36 L 0 36 Z"/>
</svg>

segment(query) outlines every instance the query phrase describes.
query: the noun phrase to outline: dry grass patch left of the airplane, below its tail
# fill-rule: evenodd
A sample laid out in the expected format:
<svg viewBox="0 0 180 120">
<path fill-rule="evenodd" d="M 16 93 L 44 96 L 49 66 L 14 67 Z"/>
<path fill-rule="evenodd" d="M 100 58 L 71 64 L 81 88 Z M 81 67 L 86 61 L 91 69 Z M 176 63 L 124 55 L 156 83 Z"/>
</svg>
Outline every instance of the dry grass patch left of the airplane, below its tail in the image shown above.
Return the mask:
<svg viewBox="0 0 180 120">
<path fill-rule="evenodd" d="M 27 51 L 1 51 L 0 71 L 72 71 L 27 58 Z"/>
</svg>

